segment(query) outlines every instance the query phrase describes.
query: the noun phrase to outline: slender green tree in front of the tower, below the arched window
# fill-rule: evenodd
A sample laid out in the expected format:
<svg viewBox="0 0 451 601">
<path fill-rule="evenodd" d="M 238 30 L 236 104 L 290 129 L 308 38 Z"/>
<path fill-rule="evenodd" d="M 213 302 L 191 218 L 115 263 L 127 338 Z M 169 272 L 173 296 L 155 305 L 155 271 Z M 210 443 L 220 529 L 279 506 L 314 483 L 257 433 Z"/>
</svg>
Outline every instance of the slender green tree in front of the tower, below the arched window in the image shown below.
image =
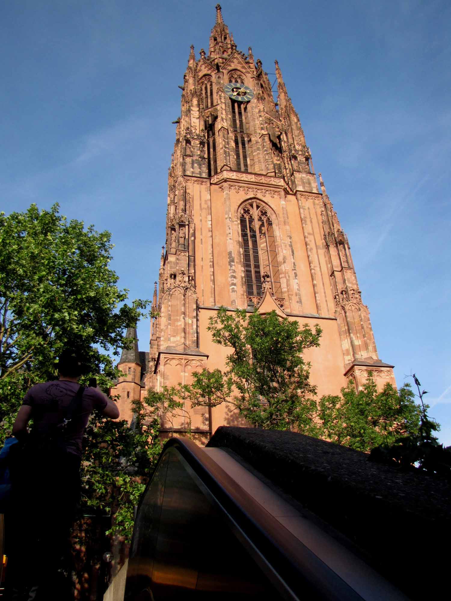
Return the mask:
<svg viewBox="0 0 451 601">
<path fill-rule="evenodd" d="M 268 430 L 297 429 L 314 434 L 316 386 L 309 381 L 305 349 L 319 346 L 321 328 L 280 319 L 275 311 L 260 315 L 221 307 L 208 330 L 216 344 L 232 349 L 224 372 L 203 370 L 191 385 L 180 386 L 179 398 L 192 406 L 230 403 L 248 422 Z"/>
</svg>

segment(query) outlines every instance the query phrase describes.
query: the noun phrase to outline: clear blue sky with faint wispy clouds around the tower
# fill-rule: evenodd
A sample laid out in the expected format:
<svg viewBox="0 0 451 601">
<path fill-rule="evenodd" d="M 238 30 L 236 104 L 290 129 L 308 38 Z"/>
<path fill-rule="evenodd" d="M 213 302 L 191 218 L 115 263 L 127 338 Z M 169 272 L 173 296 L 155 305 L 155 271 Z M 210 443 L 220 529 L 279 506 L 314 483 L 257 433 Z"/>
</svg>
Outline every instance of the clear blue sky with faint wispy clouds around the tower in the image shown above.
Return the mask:
<svg viewBox="0 0 451 601">
<path fill-rule="evenodd" d="M 3 0 L 1 210 L 61 205 L 109 230 L 150 297 L 189 46 L 216 2 Z M 382 361 L 415 371 L 451 444 L 449 0 L 223 1 L 238 48 L 278 59 L 351 243 Z M 271 76 L 270 76 L 271 77 Z M 138 328 L 147 350 L 149 323 Z"/>
</svg>

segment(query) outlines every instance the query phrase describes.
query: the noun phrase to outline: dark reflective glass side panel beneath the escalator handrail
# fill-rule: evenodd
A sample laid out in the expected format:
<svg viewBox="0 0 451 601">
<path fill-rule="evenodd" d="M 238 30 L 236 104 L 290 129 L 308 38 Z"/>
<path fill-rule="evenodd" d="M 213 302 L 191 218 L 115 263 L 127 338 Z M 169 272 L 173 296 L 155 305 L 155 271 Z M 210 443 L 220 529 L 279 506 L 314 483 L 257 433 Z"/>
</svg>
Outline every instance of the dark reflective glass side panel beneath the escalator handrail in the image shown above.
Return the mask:
<svg viewBox="0 0 451 601">
<path fill-rule="evenodd" d="M 167 451 L 155 478 L 135 526 L 126 601 L 280 598 L 177 450 Z"/>
</svg>

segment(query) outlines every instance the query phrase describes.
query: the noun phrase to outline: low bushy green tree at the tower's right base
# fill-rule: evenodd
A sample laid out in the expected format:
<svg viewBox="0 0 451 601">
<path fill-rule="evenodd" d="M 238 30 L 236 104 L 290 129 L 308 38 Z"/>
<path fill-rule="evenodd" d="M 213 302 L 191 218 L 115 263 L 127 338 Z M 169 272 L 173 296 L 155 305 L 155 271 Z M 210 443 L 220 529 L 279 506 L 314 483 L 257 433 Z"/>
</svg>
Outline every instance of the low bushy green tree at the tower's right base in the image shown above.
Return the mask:
<svg viewBox="0 0 451 601">
<path fill-rule="evenodd" d="M 418 432 L 420 407 L 410 385 L 399 390 L 387 383 L 378 392 L 372 374 L 360 391 L 351 383 L 340 395 L 326 395 L 319 401 L 321 438 L 370 451 L 391 444 L 397 437 Z"/>
</svg>

